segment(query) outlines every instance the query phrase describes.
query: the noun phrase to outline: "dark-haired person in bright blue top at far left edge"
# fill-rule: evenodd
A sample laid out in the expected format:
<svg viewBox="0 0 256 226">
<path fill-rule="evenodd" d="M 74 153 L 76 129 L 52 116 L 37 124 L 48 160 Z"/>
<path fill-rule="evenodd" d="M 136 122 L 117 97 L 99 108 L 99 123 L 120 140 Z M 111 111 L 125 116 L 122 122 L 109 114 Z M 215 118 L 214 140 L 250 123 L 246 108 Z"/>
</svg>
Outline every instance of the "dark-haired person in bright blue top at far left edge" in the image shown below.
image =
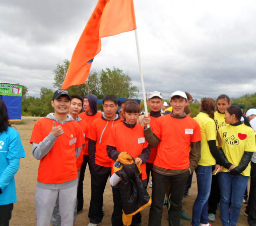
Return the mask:
<svg viewBox="0 0 256 226">
<path fill-rule="evenodd" d="M 25 151 L 17 130 L 11 127 L 5 102 L 0 99 L 0 225 L 9 225 L 17 201 L 14 175 Z"/>
</svg>

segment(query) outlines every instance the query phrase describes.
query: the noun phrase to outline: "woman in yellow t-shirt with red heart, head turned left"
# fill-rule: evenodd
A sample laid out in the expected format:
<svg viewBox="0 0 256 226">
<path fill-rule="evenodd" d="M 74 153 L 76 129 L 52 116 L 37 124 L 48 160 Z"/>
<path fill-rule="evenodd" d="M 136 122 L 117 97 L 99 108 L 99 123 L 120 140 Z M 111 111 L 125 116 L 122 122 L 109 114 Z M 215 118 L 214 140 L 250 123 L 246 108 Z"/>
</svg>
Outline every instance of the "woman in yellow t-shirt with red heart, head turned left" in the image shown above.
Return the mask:
<svg viewBox="0 0 256 226">
<path fill-rule="evenodd" d="M 220 214 L 222 225 L 236 225 L 244 190 L 250 176 L 250 159 L 256 150 L 254 130 L 246 117 L 240 121 L 242 111 L 231 105 L 226 109 L 225 122 L 219 129 L 222 150 L 229 163 L 219 173 L 221 192 Z"/>
</svg>

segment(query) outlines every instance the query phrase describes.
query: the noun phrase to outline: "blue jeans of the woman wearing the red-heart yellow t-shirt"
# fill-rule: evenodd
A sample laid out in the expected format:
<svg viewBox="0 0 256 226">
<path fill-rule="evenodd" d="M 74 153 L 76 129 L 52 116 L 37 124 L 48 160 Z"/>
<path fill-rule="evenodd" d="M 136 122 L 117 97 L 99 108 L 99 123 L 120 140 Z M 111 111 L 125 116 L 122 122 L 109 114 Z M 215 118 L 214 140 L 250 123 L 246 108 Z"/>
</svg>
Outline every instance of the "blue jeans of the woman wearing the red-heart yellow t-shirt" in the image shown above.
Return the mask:
<svg viewBox="0 0 256 226">
<path fill-rule="evenodd" d="M 219 173 L 220 214 L 223 226 L 235 226 L 241 210 L 242 200 L 249 177 L 241 174 Z M 229 208 L 230 204 L 230 208 Z"/>
</svg>

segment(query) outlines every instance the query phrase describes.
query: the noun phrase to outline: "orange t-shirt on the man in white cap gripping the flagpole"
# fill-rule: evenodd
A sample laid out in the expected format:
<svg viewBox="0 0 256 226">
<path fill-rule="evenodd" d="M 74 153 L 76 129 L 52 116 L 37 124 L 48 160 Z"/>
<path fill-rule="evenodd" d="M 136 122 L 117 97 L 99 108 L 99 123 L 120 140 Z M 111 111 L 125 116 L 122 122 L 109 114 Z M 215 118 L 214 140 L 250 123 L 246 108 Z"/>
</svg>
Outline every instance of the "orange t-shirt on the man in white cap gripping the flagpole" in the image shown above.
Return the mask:
<svg viewBox="0 0 256 226">
<path fill-rule="evenodd" d="M 161 140 L 154 165 L 171 170 L 187 169 L 190 143 L 202 140 L 199 124 L 188 116 L 183 119 L 170 115 L 159 117 L 154 134 Z"/>
</svg>

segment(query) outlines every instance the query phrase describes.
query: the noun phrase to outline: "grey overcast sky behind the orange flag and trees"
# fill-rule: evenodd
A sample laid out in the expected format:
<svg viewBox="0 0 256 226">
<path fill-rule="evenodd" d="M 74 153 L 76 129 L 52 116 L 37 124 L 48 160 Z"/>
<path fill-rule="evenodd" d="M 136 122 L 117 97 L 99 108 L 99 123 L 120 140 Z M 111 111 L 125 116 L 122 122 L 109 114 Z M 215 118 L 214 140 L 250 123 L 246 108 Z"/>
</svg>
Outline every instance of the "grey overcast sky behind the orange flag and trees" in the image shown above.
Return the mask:
<svg viewBox="0 0 256 226">
<path fill-rule="evenodd" d="M 52 70 L 71 60 L 97 0 L 4 0 L 0 82 L 30 95 L 53 88 Z M 256 92 L 256 1 L 134 0 L 146 92 L 194 98 Z M 113 66 L 142 88 L 134 31 L 102 39 L 91 70 Z"/>
</svg>

